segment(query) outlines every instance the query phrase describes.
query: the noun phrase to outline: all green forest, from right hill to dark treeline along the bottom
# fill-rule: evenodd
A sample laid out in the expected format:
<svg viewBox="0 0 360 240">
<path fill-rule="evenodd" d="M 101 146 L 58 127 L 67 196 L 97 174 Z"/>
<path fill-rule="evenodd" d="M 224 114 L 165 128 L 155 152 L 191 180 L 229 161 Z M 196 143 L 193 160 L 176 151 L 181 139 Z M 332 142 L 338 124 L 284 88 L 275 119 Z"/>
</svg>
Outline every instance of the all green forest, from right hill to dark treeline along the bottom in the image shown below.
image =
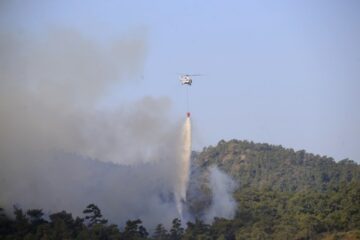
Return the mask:
<svg viewBox="0 0 360 240">
<path fill-rule="evenodd" d="M 248 141 L 220 141 L 194 153 L 194 179 L 204 179 L 200 198 L 189 208 L 198 220 L 148 230 L 140 219 L 123 229 L 109 224 L 90 204 L 84 217 L 59 212 L 44 218 L 39 209 L 14 208 L 15 219 L 0 209 L 0 239 L 360 239 L 360 166 L 351 160 L 294 151 Z M 238 183 L 232 220 L 202 214 L 211 204 L 206 173 L 219 166 Z"/>
</svg>

